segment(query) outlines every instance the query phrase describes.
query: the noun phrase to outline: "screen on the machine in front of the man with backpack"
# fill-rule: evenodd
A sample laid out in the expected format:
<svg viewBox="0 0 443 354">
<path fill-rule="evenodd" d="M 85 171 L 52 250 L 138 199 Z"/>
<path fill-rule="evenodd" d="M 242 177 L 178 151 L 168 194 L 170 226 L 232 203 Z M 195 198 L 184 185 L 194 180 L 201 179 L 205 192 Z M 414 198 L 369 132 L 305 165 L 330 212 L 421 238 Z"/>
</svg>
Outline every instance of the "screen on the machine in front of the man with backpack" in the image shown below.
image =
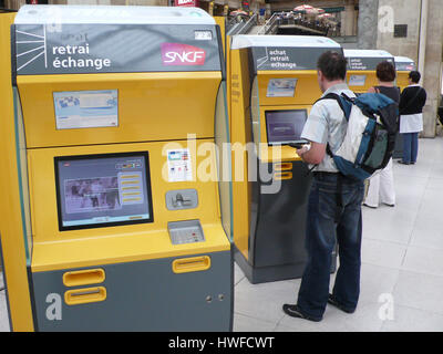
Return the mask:
<svg viewBox="0 0 443 354">
<path fill-rule="evenodd" d="M 266 111 L 268 144 L 308 143 L 301 138 L 308 113 L 306 110 Z"/>
</svg>

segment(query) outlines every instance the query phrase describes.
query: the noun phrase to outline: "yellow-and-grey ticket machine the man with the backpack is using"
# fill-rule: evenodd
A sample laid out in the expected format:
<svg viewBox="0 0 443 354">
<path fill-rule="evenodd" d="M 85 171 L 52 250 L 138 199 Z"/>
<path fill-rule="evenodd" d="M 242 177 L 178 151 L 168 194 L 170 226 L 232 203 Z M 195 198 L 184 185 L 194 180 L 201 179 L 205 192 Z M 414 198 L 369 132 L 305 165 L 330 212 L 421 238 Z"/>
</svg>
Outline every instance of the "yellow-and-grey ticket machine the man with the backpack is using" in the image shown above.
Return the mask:
<svg viewBox="0 0 443 354">
<path fill-rule="evenodd" d="M 328 38 L 234 35 L 230 43 L 235 259 L 251 283 L 299 278 L 308 166 L 290 145 L 321 96 L 317 60 Z M 333 266 L 334 267 L 334 266 Z"/>
</svg>

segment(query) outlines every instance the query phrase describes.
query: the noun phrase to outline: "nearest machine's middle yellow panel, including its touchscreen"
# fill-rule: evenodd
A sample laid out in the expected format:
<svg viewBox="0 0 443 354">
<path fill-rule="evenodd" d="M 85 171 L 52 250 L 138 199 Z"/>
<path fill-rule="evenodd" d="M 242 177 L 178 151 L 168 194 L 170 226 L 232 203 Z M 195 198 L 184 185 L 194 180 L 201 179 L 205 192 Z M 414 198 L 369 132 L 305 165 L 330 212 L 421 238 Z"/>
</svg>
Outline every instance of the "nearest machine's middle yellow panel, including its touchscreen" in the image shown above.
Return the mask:
<svg viewBox="0 0 443 354">
<path fill-rule="evenodd" d="M 208 146 L 212 149 L 203 154 L 203 147 Z M 59 168 L 65 169 L 73 169 L 75 166 L 72 162 L 75 158 L 79 160 L 79 156 L 83 163 L 89 162 L 87 157 L 96 159 L 99 155 L 114 156 L 110 157 L 111 163 L 116 156 L 128 157 L 126 163 L 137 164 L 140 158 L 133 157 L 144 156 L 143 152 L 150 157 L 150 178 L 143 177 L 137 168 L 124 169 L 122 173 L 120 165 L 126 162 L 122 159 L 115 160 L 115 168 L 111 168 L 112 170 L 103 171 L 95 163 L 90 170 L 80 166 L 79 170 L 68 173 L 66 178 L 55 179 L 54 166 L 58 160 L 61 162 Z M 186 156 L 181 155 L 177 160 L 176 156 L 179 154 Z M 69 166 L 64 166 L 65 164 Z M 29 166 L 34 271 L 86 267 L 97 259 L 103 263 L 115 263 L 171 257 L 177 251 L 187 254 L 196 249 L 214 251 L 229 248 L 229 240 L 220 225 L 219 205 L 214 202 L 218 200 L 218 185 L 212 140 L 194 140 L 189 145 L 175 142 L 171 145 L 140 143 L 33 149 L 29 152 Z M 147 185 L 144 185 L 145 180 Z M 92 185 L 101 189 L 95 192 L 89 190 Z M 138 189 L 124 189 L 128 187 Z M 83 192 L 82 188 L 89 191 Z M 152 198 L 148 197 L 150 189 Z M 189 195 L 186 190 L 193 190 L 193 194 Z M 134 198 L 140 200 L 132 200 Z M 167 201 L 166 198 L 171 200 Z M 190 205 L 187 205 L 188 199 Z M 198 202 L 193 201 L 197 199 Z M 171 208 L 179 204 L 182 208 Z M 64 211 L 60 214 L 60 210 Z M 148 218 L 142 221 L 147 222 L 140 223 L 140 218 L 144 215 Z M 131 222 L 131 218 L 135 218 L 132 221 L 136 222 Z M 82 228 L 60 228 L 64 219 L 80 222 Z M 106 225 L 106 219 L 113 219 L 114 222 Z M 196 219 L 202 225 L 205 242 L 173 247 L 168 222 Z"/>
</svg>

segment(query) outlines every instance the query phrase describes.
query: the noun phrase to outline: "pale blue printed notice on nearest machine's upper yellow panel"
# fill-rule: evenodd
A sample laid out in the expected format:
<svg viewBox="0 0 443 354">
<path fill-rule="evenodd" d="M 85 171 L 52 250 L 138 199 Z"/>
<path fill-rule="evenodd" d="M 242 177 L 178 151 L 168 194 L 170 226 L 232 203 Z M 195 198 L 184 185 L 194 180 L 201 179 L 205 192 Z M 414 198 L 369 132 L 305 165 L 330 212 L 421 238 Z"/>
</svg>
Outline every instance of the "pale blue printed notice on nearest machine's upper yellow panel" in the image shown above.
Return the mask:
<svg viewBox="0 0 443 354">
<path fill-rule="evenodd" d="M 58 129 L 119 126 L 116 90 L 54 92 Z"/>
</svg>

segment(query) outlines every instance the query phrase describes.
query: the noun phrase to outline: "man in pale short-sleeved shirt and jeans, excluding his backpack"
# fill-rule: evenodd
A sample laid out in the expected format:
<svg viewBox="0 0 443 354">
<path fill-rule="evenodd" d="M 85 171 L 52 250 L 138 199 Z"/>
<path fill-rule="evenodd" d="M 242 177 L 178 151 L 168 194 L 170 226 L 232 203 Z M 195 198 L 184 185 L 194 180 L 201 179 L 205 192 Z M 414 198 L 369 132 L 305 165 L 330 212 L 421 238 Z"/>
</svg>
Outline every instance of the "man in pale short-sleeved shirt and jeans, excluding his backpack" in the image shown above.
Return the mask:
<svg viewBox="0 0 443 354">
<path fill-rule="evenodd" d="M 342 54 L 326 52 L 317 67 L 323 96 L 344 93 L 354 97 L 344 81 L 347 61 Z M 313 169 L 308 202 L 308 262 L 297 304 L 284 304 L 285 313 L 293 317 L 321 321 L 328 302 L 352 313 L 359 299 L 364 184 L 339 174 L 333 159 L 327 154 L 328 145 L 332 154 L 338 150 L 346 131 L 347 121 L 337 101 L 321 100 L 312 106 L 301 134 L 310 142 L 310 148 L 298 149 L 298 155 L 306 163 L 318 166 Z M 332 294 L 329 294 L 336 240 L 340 267 Z"/>
</svg>

